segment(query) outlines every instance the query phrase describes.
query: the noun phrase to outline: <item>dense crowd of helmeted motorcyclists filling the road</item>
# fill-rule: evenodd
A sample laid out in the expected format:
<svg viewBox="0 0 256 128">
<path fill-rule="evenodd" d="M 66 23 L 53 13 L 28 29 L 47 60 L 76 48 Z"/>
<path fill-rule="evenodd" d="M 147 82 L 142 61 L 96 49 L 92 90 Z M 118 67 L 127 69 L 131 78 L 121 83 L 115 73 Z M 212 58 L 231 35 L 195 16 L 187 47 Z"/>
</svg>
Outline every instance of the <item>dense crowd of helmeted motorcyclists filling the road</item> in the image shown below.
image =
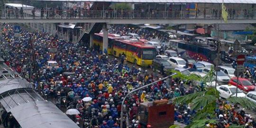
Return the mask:
<svg viewBox="0 0 256 128">
<path fill-rule="evenodd" d="M 0 27 L 0 55 L 5 63 L 32 82 L 45 99 L 55 102 L 61 110 L 79 110 L 80 114 L 68 116 L 82 128 L 119 128 L 120 121 L 123 121 L 123 128 L 141 128 L 137 120 L 141 102 L 172 99 L 194 92 L 192 85 L 187 89 L 178 78 L 157 82 L 129 96 L 125 101 L 125 117 L 120 119 L 121 102 L 126 94 L 143 85 L 161 80 L 159 76 L 135 66 L 128 66 L 127 63 L 123 63 L 125 57 L 119 62 L 117 58 L 99 54 L 94 49 L 66 42 L 42 32 L 30 33 L 23 30 L 20 37 L 13 38 L 13 25 L 0 24 Z M 53 40 L 58 42 L 57 53 L 50 51 L 49 46 Z M 31 54 L 31 51 L 34 54 Z M 33 60 L 34 57 L 37 61 Z M 44 65 L 49 60 L 55 60 L 58 67 Z M 28 68 L 33 61 L 37 65 L 36 72 Z M 30 73 L 32 71 L 33 73 Z M 87 97 L 91 100 L 83 100 Z M 222 101 L 219 100 L 219 106 L 227 104 L 220 102 Z M 224 120 L 220 115 L 224 118 L 227 116 L 221 109 L 216 113 L 220 122 Z M 195 114 L 196 111 L 191 110 L 189 106 L 180 104 L 176 105 L 174 119 L 190 124 Z M 252 120 L 249 124 L 252 126 L 254 119 L 242 114 L 241 116 L 248 118 L 244 124 L 249 124 L 248 120 Z M 126 118 L 131 121 L 126 121 Z"/>
</svg>

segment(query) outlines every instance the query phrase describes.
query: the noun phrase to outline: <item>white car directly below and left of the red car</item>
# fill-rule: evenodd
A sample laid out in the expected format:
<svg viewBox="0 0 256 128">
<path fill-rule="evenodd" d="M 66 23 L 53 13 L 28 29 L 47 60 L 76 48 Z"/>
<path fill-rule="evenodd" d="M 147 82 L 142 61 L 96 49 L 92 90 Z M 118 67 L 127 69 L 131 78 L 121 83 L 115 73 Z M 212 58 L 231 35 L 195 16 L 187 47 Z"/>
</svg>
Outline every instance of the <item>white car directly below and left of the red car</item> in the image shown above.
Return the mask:
<svg viewBox="0 0 256 128">
<path fill-rule="evenodd" d="M 219 97 L 221 98 L 230 98 L 230 97 L 236 97 L 237 87 L 233 85 L 220 85 L 217 87 L 217 90 L 219 91 Z M 238 97 L 245 97 L 246 94 L 238 89 Z"/>
</svg>

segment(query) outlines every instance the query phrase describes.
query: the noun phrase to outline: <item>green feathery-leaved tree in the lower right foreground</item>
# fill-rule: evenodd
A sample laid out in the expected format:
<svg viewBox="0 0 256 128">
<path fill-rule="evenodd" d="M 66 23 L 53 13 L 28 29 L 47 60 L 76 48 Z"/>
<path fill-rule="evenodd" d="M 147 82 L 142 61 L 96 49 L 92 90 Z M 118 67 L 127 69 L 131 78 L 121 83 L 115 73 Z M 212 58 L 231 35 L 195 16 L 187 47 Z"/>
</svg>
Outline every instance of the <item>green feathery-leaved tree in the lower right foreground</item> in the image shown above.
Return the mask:
<svg viewBox="0 0 256 128">
<path fill-rule="evenodd" d="M 207 73 L 204 77 L 197 75 L 186 76 L 180 72 L 176 72 L 176 75 L 173 77 L 179 77 L 186 81 L 201 81 L 207 82 L 208 80 L 212 81 L 212 76 L 214 73 L 213 68 L 210 72 Z M 218 109 L 216 100 L 219 99 L 219 91 L 212 87 L 206 87 L 204 91 L 198 91 L 192 94 L 174 98 L 173 101 L 175 104 L 188 104 L 191 106 L 192 110 L 196 110 L 197 114 L 192 117 L 192 122 L 186 128 L 205 128 L 206 123 L 215 124 L 217 122 L 215 110 Z M 248 110 L 256 110 L 256 103 L 249 101 L 246 98 L 241 97 L 231 97 L 226 99 L 230 103 L 239 104 L 243 108 Z M 210 117 L 211 119 L 206 119 Z M 173 127 L 171 127 L 173 128 Z M 174 127 L 176 128 L 176 127 Z M 230 128 L 242 128 L 241 126 L 231 125 Z"/>
</svg>

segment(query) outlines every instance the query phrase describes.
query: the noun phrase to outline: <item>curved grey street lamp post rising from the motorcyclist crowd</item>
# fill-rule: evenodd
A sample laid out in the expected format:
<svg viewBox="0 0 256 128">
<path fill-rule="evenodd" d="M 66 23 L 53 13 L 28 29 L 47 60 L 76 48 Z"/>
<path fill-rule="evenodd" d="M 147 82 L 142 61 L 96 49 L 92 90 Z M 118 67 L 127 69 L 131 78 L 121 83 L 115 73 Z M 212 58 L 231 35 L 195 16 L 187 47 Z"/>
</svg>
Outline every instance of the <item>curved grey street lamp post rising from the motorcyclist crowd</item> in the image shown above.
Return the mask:
<svg viewBox="0 0 256 128">
<path fill-rule="evenodd" d="M 186 71 L 186 70 L 188 70 L 188 69 L 190 69 L 190 68 L 187 68 L 187 69 L 181 71 L 181 73 L 184 72 L 184 71 Z M 151 82 L 151 83 L 146 84 L 146 85 L 144 85 L 144 86 L 142 86 L 142 87 L 139 87 L 139 88 L 137 88 L 137 89 L 135 89 L 135 90 L 133 90 L 133 91 L 130 91 L 130 92 L 124 97 L 124 99 L 123 99 L 123 101 L 122 101 L 120 128 L 123 128 L 123 118 L 124 118 L 124 117 L 123 117 L 123 110 L 124 110 L 124 102 L 125 102 L 126 98 L 127 98 L 131 93 L 133 93 L 133 92 L 135 92 L 135 91 L 139 91 L 139 90 L 141 90 L 141 89 L 143 89 L 143 88 L 146 88 L 147 86 L 150 86 L 150 85 L 152 85 L 152 84 L 154 84 L 154 83 L 156 83 L 156 82 L 160 82 L 160 81 L 163 81 L 163 80 L 165 80 L 165 79 L 168 79 L 168 78 L 174 76 L 175 74 L 177 74 L 177 73 L 173 73 L 173 74 L 171 74 L 171 75 L 166 76 L 165 78 L 163 78 L 163 79 L 161 79 L 161 80 L 158 80 L 158 81 L 155 81 L 155 82 Z"/>
</svg>

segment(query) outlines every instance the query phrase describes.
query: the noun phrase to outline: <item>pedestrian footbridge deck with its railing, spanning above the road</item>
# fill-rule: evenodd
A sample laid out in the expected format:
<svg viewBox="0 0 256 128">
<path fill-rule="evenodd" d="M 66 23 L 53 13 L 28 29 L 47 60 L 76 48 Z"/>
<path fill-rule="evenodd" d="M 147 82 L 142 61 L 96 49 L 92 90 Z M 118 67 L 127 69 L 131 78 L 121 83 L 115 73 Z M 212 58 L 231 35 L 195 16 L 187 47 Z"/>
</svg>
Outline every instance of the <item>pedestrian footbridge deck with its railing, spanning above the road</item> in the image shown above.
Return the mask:
<svg viewBox="0 0 256 128">
<path fill-rule="evenodd" d="M 216 24 L 224 23 L 221 14 L 201 11 L 106 11 L 85 10 L 72 13 L 68 10 L 24 10 L 22 13 L 2 10 L 2 23 L 107 23 L 107 24 Z M 13 13 L 12 13 L 13 12 Z M 31 13 L 33 12 L 33 13 Z M 57 13 L 56 13 L 57 12 Z M 61 13 L 60 13 L 61 12 Z M 256 11 L 237 12 L 228 23 L 256 23 Z"/>
</svg>

